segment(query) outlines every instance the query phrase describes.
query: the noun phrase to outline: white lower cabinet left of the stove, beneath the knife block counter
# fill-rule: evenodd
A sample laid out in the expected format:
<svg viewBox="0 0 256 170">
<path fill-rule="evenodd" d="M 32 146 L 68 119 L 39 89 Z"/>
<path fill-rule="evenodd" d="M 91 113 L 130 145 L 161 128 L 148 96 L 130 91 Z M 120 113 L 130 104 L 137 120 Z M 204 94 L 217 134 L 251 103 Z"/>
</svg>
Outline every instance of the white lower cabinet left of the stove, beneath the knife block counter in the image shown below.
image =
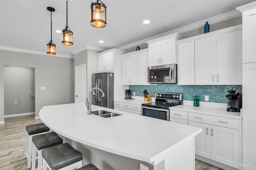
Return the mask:
<svg viewBox="0 0 256 170">
<path fill-rule="evenodd" d="M 114 109 L 141 115 L 141 104 L 114 102 Z"/>
</svg>

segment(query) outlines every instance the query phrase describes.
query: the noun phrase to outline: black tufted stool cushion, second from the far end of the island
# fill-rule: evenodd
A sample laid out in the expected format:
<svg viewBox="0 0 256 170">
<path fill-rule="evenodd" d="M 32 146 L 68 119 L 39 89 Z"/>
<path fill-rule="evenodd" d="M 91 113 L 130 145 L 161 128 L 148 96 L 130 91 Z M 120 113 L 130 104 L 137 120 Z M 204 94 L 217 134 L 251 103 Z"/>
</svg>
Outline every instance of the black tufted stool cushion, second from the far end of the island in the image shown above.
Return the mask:
<svg viewBox="0 0 256 170">
<path fill-rule="evenodd" d="M 63 139 L 56 132 L 44 133 L 32 137 L 37 150 L 45 149 L 63 143 Z"/>
</svg>

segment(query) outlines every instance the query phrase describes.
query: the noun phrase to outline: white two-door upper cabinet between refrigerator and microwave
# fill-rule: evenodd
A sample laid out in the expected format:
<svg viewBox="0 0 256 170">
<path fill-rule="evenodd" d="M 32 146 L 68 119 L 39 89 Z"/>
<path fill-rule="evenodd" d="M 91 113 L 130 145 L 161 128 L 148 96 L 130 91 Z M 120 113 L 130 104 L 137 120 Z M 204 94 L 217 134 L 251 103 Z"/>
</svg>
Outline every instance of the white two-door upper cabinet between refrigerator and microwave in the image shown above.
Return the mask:
<svg viewBox="0 0 256 170">
<path fill-rule="evenodd" d="M 148 49 L 122 55 L 122 84 L 147 85 Z"/>
</svg>

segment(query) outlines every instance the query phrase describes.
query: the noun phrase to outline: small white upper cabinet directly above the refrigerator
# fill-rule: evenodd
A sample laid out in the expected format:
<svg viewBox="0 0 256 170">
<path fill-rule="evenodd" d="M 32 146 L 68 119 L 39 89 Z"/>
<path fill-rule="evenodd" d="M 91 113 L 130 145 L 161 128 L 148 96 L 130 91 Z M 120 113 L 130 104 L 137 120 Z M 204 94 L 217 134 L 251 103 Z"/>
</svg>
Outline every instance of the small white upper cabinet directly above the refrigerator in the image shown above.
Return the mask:
<svg viewBox="0 0 256 170">
<path fill-rule="evenodd" d="M 98 56 L 98 72 L 114 70 L 114 52 Z"/>
</svg>

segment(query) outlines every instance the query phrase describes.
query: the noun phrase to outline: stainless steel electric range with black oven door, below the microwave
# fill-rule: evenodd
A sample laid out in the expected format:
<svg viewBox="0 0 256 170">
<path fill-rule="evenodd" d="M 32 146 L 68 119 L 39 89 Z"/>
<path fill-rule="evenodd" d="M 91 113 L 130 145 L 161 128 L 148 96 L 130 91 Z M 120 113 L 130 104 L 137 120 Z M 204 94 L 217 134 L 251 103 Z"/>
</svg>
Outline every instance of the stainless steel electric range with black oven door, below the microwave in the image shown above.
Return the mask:
<svg viewBox="0 0 256 170">
<path fill-rule="evenodd" d="M 156 102 L 142 104 L 142 115 L 170 121 L 169 107 L 183 104 L 182 93 L 155 93 Z"/>
</svg>

